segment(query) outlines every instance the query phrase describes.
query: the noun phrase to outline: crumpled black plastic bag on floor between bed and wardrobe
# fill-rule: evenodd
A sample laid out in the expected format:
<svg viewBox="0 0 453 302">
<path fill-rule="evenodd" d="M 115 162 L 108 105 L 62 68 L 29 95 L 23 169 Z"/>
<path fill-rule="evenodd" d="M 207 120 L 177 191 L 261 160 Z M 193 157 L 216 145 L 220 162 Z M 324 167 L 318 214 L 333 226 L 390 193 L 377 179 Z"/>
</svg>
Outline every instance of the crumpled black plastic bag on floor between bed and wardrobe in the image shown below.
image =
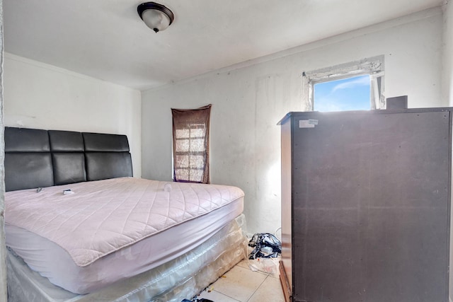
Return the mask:
<svg viewBox="0 0 453 302">
<path fill-rule="evenodd" d="M 248 246 L 253 248 L 248 259 L 276 258 L 282 252 L 282 243 L 270 233 L 256 233 L 248 241 Z"/>
</svg>

